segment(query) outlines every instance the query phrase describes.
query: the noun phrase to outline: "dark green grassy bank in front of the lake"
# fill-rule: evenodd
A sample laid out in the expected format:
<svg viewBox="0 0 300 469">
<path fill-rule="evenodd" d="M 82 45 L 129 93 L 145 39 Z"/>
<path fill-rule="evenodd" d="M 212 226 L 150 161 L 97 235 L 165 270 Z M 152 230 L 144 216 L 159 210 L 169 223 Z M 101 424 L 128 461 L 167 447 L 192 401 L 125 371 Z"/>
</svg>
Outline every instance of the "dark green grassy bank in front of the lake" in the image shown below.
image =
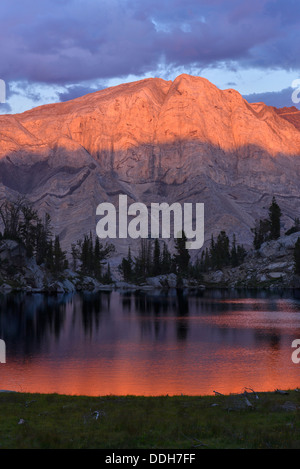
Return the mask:
<svg viewBox="0 0 300 469">
<path fill-rule="evenodd" d="M 0 393 L 0 448 L 300 448 L 300 392 L 258 397 Z"/>
</svg>

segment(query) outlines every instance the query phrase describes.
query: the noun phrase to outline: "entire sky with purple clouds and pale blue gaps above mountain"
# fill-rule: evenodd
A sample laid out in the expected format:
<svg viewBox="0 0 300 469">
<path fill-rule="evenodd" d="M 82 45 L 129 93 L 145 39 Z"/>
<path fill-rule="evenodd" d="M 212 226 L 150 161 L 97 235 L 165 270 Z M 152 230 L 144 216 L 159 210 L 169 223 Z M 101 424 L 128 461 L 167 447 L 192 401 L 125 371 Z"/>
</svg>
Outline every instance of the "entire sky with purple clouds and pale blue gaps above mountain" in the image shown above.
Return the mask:
<svg viewBox="0 0 300 469">
<path fill-rule="evenodd" d="M 278 107 L 300 83 L 299 0 L 1 0 L 0 40 L 1 114 L 180 73 Z"/>
</svg>

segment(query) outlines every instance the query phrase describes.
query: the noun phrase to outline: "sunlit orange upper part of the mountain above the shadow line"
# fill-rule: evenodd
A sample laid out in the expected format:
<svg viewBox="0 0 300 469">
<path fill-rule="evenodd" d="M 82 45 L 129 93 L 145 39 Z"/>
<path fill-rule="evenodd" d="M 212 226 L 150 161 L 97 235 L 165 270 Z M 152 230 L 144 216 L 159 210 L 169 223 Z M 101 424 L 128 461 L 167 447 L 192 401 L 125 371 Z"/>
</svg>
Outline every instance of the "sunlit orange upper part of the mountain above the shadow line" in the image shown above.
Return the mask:
<svg viewBox="0 0 300 469">
<path fill-rule="evenodd" d="M 299 154 L 300 112 L 249 104 L 233 89 L 220 90 L 187 74 L 125 83 L 23 114 L 2 116 L 0 155 L 24 145 L 51 147 L 72 140 L 96 160 L 103 152 L 140 145 L 193 141 L 224 151 L 257 147 L 269 154 Z M 5 130 L 6 129 L 6 130 Z"/>
</svg>

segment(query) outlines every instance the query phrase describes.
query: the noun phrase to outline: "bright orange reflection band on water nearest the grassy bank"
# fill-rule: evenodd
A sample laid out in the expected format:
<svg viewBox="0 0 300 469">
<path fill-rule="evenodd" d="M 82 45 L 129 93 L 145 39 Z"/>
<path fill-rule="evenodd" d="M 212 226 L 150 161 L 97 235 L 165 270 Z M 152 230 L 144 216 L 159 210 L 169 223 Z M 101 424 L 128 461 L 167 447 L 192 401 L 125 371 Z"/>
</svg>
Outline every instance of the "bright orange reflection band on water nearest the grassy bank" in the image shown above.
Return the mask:
<svg viewBox="0 0 300 469">
<path fill-rule="evenodd" d="M 125 352 L 125 350 L 124 350 Z M 109 361 L 47 360 L 26 363 L 8 363 L 1 367 L 1 387 L 23 392 L 60 393 L 74 395 L 199 395 L 242 391 L 253 387 L 259 391 L 276 388 L 296 388 L 300 384 L 299 366 L 287 363 L 280 351 L 266 354 L 263 351 L 250 354 L 245 349 L 221 351 L 215 361 L 203 355 L 201 363 L 191 363 L 178 351 L 165 350 L 164 360 L 135 361 L 118 359 Z M 186 350 L 186 354 L 190 351 Z M 290 356 L 286 357 L 290 361 Z M 213 362 L 214 361 L 214 362 Z"/>
</svg>

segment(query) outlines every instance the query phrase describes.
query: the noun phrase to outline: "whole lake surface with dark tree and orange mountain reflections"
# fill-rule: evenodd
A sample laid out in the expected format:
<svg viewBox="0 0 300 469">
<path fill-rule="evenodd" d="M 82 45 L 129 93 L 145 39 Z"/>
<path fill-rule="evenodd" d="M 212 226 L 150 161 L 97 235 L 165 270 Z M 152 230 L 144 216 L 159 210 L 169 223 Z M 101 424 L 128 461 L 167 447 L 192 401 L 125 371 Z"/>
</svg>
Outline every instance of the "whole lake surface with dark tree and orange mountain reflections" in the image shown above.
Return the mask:
<svg viewBox="0 0 300 469">
<path fill-rule="evenodd" d="M 300 294 L 205 291 L 0 297 L 0 389 L 212 394 L 300 387 Z"/>
</svg>

